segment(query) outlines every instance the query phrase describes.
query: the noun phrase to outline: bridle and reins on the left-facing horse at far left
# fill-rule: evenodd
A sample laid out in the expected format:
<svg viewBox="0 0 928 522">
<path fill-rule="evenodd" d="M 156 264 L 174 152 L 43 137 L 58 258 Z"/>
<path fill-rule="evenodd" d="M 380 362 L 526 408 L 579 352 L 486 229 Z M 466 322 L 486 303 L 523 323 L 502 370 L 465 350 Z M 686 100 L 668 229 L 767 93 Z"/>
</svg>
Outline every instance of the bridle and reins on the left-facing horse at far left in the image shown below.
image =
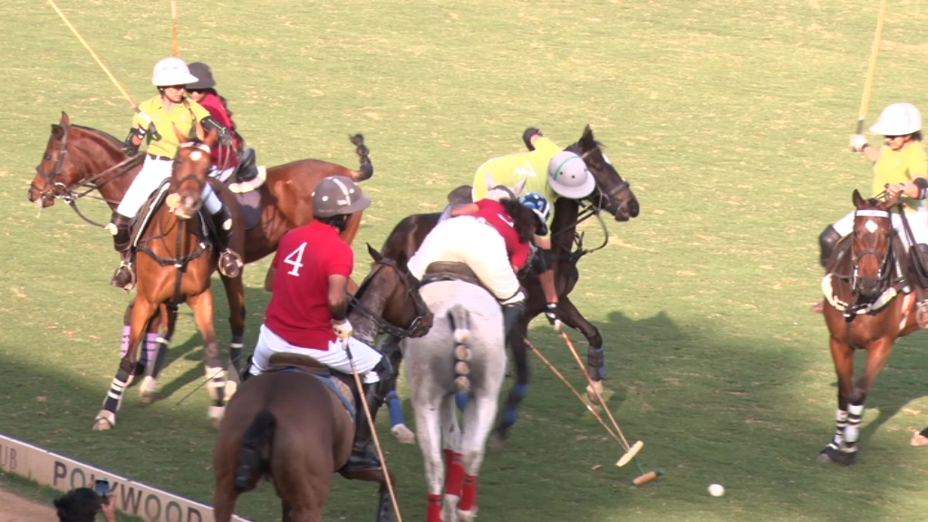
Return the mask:
<svg viewBox="0 0 928 522">
<path fill-rule="evenodd" d="M 37 186 L 35 182 L 32 182 L 30 184 L 30 188 L 36 189 L 39 191 L 40 201 L 44 200 L 45 197 L 50 194 L 54 198 L 68 203 L 71 209 L 74 210 L 74 213 L 80 216 L 81 219 L 84 219 L 84 221 L 86 221 L 87 223 L 95 227 L 106 228 L 106 225 L 101 225 L 97 223 L 96 221 L 88 218 L 86 215 L 84 215 L 84 213 L 82 213 L 81 210 L 77 207 L 77 200 L 84 198 L 84 197 L 90 197 L 92 199 L 100 200 L 100 201 L 107 202 L 107 203 L 118 203 L 118 202 L 112 202 L 102 197 L 93 196 L 92 193 L 95 191 L 98 191 L 103 185 L 110 183 L 110 181 L 116 179 L 117 177 L 123 176 L 126 173 L 128 173 L 130 170 L 135 168 L 135 165 L 137 163 L 142 163 L 145 156 L 139 155 L 139 156 L 129 157 L 120 163 L 116 163 L 110 168 L 104 170 L 103 172 L 100 172 L 97 175 L 89 176 L 89 177 L 86 176 L 84 172 L 81 171 L 80 168 L 78 168 L 77 164 L 74 164 L 74 168 L 77 169 L 78 172 L 81 173 L 81 181 L 76 183 L 74 188 L 84 188 L 83 191 L 75 192 L 74 188 L 71 188 L 70 186 L 65 185 L 64 183 L 61 183 L 60 181 L 56 181 L 56 179 L 61 176 L 61 171 L 64 169 L 64 162 L 68 158 L 68 155 L 69 155 L 68 137 L 71 136 L 71 124 L 64 124 L 62 126 L 62 130 L 63 130 L 63 137 L 60 140 L 58 140 L 58 144 L 59 144 L 58 160 L 55 161 L 55 166 L 52 168 L 52 172 L 47 173 L 44 170 L 42 170 L 42 163 L 39 163 L 35 167 L 35 172 L 39 176 L 42 176 L 43 179 L 45 179 L 45 185 L 46 185 L 45 189 L 39 188 L 39 186 Z M 100 186 L 97 186 L 97 180 L 101 179 L 103 176 L 109 175 L 110 173 L 114 171 L 116 172 L 115 176 L 111 176 L 110 179 L 104 181 Z"/>
</svg>

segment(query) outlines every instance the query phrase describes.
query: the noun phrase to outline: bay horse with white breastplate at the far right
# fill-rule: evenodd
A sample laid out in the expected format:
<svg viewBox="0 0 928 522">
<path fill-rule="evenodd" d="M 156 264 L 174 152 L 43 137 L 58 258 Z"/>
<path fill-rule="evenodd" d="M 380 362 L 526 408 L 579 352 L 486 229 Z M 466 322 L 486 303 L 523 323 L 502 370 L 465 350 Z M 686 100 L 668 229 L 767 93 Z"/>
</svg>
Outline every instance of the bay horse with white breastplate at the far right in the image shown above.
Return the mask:
<svg viewBox="0 0 928 522">
<path fill-rule="evenodd" d="M 855 463 L 864 402 L 876 376 L 899 337 L 919 330 L 913 313 L 919 282 L 902 238 L 893 228 L 890 201 L 865 200 L 855 190 L 854 232 L 831 254 L 822 281 L 825 323 L 831 335 L 831 359 L 838 377 L 837 425 L 818 462 Z M 854 352 L 867 351 L 863 375 L 854 380 Z M 928 429 L 916 433 L 912 445 L 928 443 Z"/>
</svg>

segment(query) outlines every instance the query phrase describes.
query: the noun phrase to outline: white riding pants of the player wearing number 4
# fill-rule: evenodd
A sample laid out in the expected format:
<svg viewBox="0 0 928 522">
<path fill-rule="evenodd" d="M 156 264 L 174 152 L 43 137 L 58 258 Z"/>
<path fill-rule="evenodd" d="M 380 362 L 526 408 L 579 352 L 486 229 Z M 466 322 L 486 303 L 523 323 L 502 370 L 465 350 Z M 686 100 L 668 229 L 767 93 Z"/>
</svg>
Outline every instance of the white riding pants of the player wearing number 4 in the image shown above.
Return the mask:
<svg viewBox="0 0 928 522">
<path fill-rule="evenodd" d="M 377 372 L 371 372 L 383 357 L 380 352 L 354 337 L 348 338 L 348 345 L 351 346 L 351 355 L 354 357 L 354 368 L 361 374 L 361 380 L 364 384 L 369 385 L 380 382 L 380 375 Z M 254 355 L 251 356 L 251 374 L 261 375 L 266 372 L 271 356 L 276 353 L 304 355 L 316 359 L 336 372 L 349 375 L 352 373 L 351 363 L 348 361 L 348 352 L 342 349 L 340 341 L 330 342 L 328 350 L 290 345 L 277 333 L 262 324 L 261 333 L 258 335 L 258 346 L 255 346 Z"/>
</svg>

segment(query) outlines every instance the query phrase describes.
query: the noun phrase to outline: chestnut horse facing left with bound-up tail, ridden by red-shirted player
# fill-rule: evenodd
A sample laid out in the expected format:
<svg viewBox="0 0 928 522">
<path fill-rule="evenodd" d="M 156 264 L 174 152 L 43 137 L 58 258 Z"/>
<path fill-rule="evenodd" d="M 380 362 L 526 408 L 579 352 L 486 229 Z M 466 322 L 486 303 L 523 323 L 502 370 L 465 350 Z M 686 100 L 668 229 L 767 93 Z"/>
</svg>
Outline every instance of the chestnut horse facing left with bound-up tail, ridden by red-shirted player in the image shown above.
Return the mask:
<svg viewBox="0 0 928 522">
<path fill-rule="evenodd" d="M 320 179 L 341 175 L 349 176 L 355 181 L 363 181 L 373 176 L 374 167 L 370 163 L 364 137 L 355 135 L 352 142 L 360 158 L 358 170 L 319 160 L 300 160 L 267 169 L 264 183 L 260 187 L 239 195 L 240 200 L 248 203 L 243 205 L 243 208 L 254 208 L 252 214 L 258 216 L 257 225 L 245 232 L 244 250 L 240 251 L 246 264 L 277 250 L 277 242 L 290 229 L 309 223 L 313 215 L 312 193 Z M 122 150 L 122 142 L 116 137 L 97 129 L 71 124 L 68 114 L 61 112 L 60 122 L 51 126 L 42 162 L 35 167 L 36 175 L 29 189 L 29 201 L 45 208 L 60 199 L 67 202 L 84 221 L 105 228 L 87 218 L 79 209 L 78 201 L 87 197 L 101 199 L 111 210 L 115 210 L 141 170 L 143 160 L 144 155 L 141 154 L 127 156 Z M 95 192 L 99 193 L 98 197 L 94 195 Z M 342 239 L 349 244 L 354 241 L 361 217 L 362 213 L 353 215 L 342 232 Z M 229 309 L 241 310 L 240 315 L 229 317 L 232 330 L 230 354 L 233 368 L 236 370 L 231 375 L 231 383 L 235 383 L 240 370 L 239 359 L 244 342 L 244 296 L 240 285 L 236 286 L 233 281 L 222 275 L 221 280 L 226 287 Z M 233 304 L 233 301 L 238 305 Z M 133 315 L 132 307 L 133 303 L 130 303 L 124 315 L 125 331 L 129 329 Z M 161 315 L 166 315 L 166 312 L 162 311 Z M 149 342 L 157 343 L 154 339 L 158 337 L 156 332 L 160 323 L 159 317 L 151 321 Z M 157 363 L 163 360 L 166 349 L 164 343 L 158 346 L 158 355 L 154 358 L 156 364 L 148 366 L 148 376 L 157 378 Z M 137 372 L 133 372 L 135 373 Z M 154 385 L 141 388 L 146 400 L 153 399 L 156 391 L 157 387 Z"/>
</svg>

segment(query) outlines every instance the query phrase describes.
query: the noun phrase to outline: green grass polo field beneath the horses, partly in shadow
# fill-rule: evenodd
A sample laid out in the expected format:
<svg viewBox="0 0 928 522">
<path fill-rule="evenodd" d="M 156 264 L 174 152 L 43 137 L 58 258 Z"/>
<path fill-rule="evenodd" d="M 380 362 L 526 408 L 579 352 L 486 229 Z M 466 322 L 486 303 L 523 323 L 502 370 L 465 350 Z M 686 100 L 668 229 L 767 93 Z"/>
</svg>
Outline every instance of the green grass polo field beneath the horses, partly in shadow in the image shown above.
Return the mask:
<svg viewBox="0 0 928 522">
<path fill-rule="evenodd" d="M 137 100 L 154 94 L 151 68 L 171 52 L 168 2 L 59 5 Z M 482 519 L 922 519 L 928 453 L 908 444 L 928 423 L 922 334 L 896 346 L 877 382 L 858 464 L 815 462 L 835 408 L 827 332 L 808 312 L 817 237 L 850 210 L 852 189 L 870 188 L 846 141 L 877 6 L 181 0 L 180 43 L 183 58 L 213 66 L 261 163 L 354 166 L 347 137 L 366 135 L 377 173 L 363 185 L 374 206 L 355 242 L 359 275 L 365 241 L 379 247 L 403 216 L 440 209 L 483 161 L 520 150 L 528 125 L 566 145 L 592 124 L 631 182 L 641 215 L 611 226 L 573 295 L 606 339 L 612 411 L 666 475 L 631 487 L 635 472 L 612 466 L 617 446 L 533 359 L 522 420 L 483 466 Z M 928 5 L 890 3 L 870 122 L 894 101 L 928 108 L 926 19 Z M 0 47 L 0 432 L 211 502 L 206 392 L 177 405 L 202 376 L 189 310 L 161 401 L 143 405 L 133 388 L 117 429 L 92 432 L 118 364 L 127 297 L 108 286 L 118 258 L 109 235 L 60 202 L 37 217 L 25 197 L 60 111 L 118 137 L 131 112 L 43 2 L 4 2 Z M 266 266 L 246 270 L 249 349 Z M 220 285 L 225 346 L 223 300 Z M 546 322 L 531 335 L 583 384 Z M 423 519 L 419 450 L 386 449 L 406 519 Z M 726 496 L 706 493 L 713 482 Z M 374 502 L 372 486 L 336 478 L 326 519 L 369 519 Z M 279 516 L 266 486 L 238 512 Z"/>
</svg>

